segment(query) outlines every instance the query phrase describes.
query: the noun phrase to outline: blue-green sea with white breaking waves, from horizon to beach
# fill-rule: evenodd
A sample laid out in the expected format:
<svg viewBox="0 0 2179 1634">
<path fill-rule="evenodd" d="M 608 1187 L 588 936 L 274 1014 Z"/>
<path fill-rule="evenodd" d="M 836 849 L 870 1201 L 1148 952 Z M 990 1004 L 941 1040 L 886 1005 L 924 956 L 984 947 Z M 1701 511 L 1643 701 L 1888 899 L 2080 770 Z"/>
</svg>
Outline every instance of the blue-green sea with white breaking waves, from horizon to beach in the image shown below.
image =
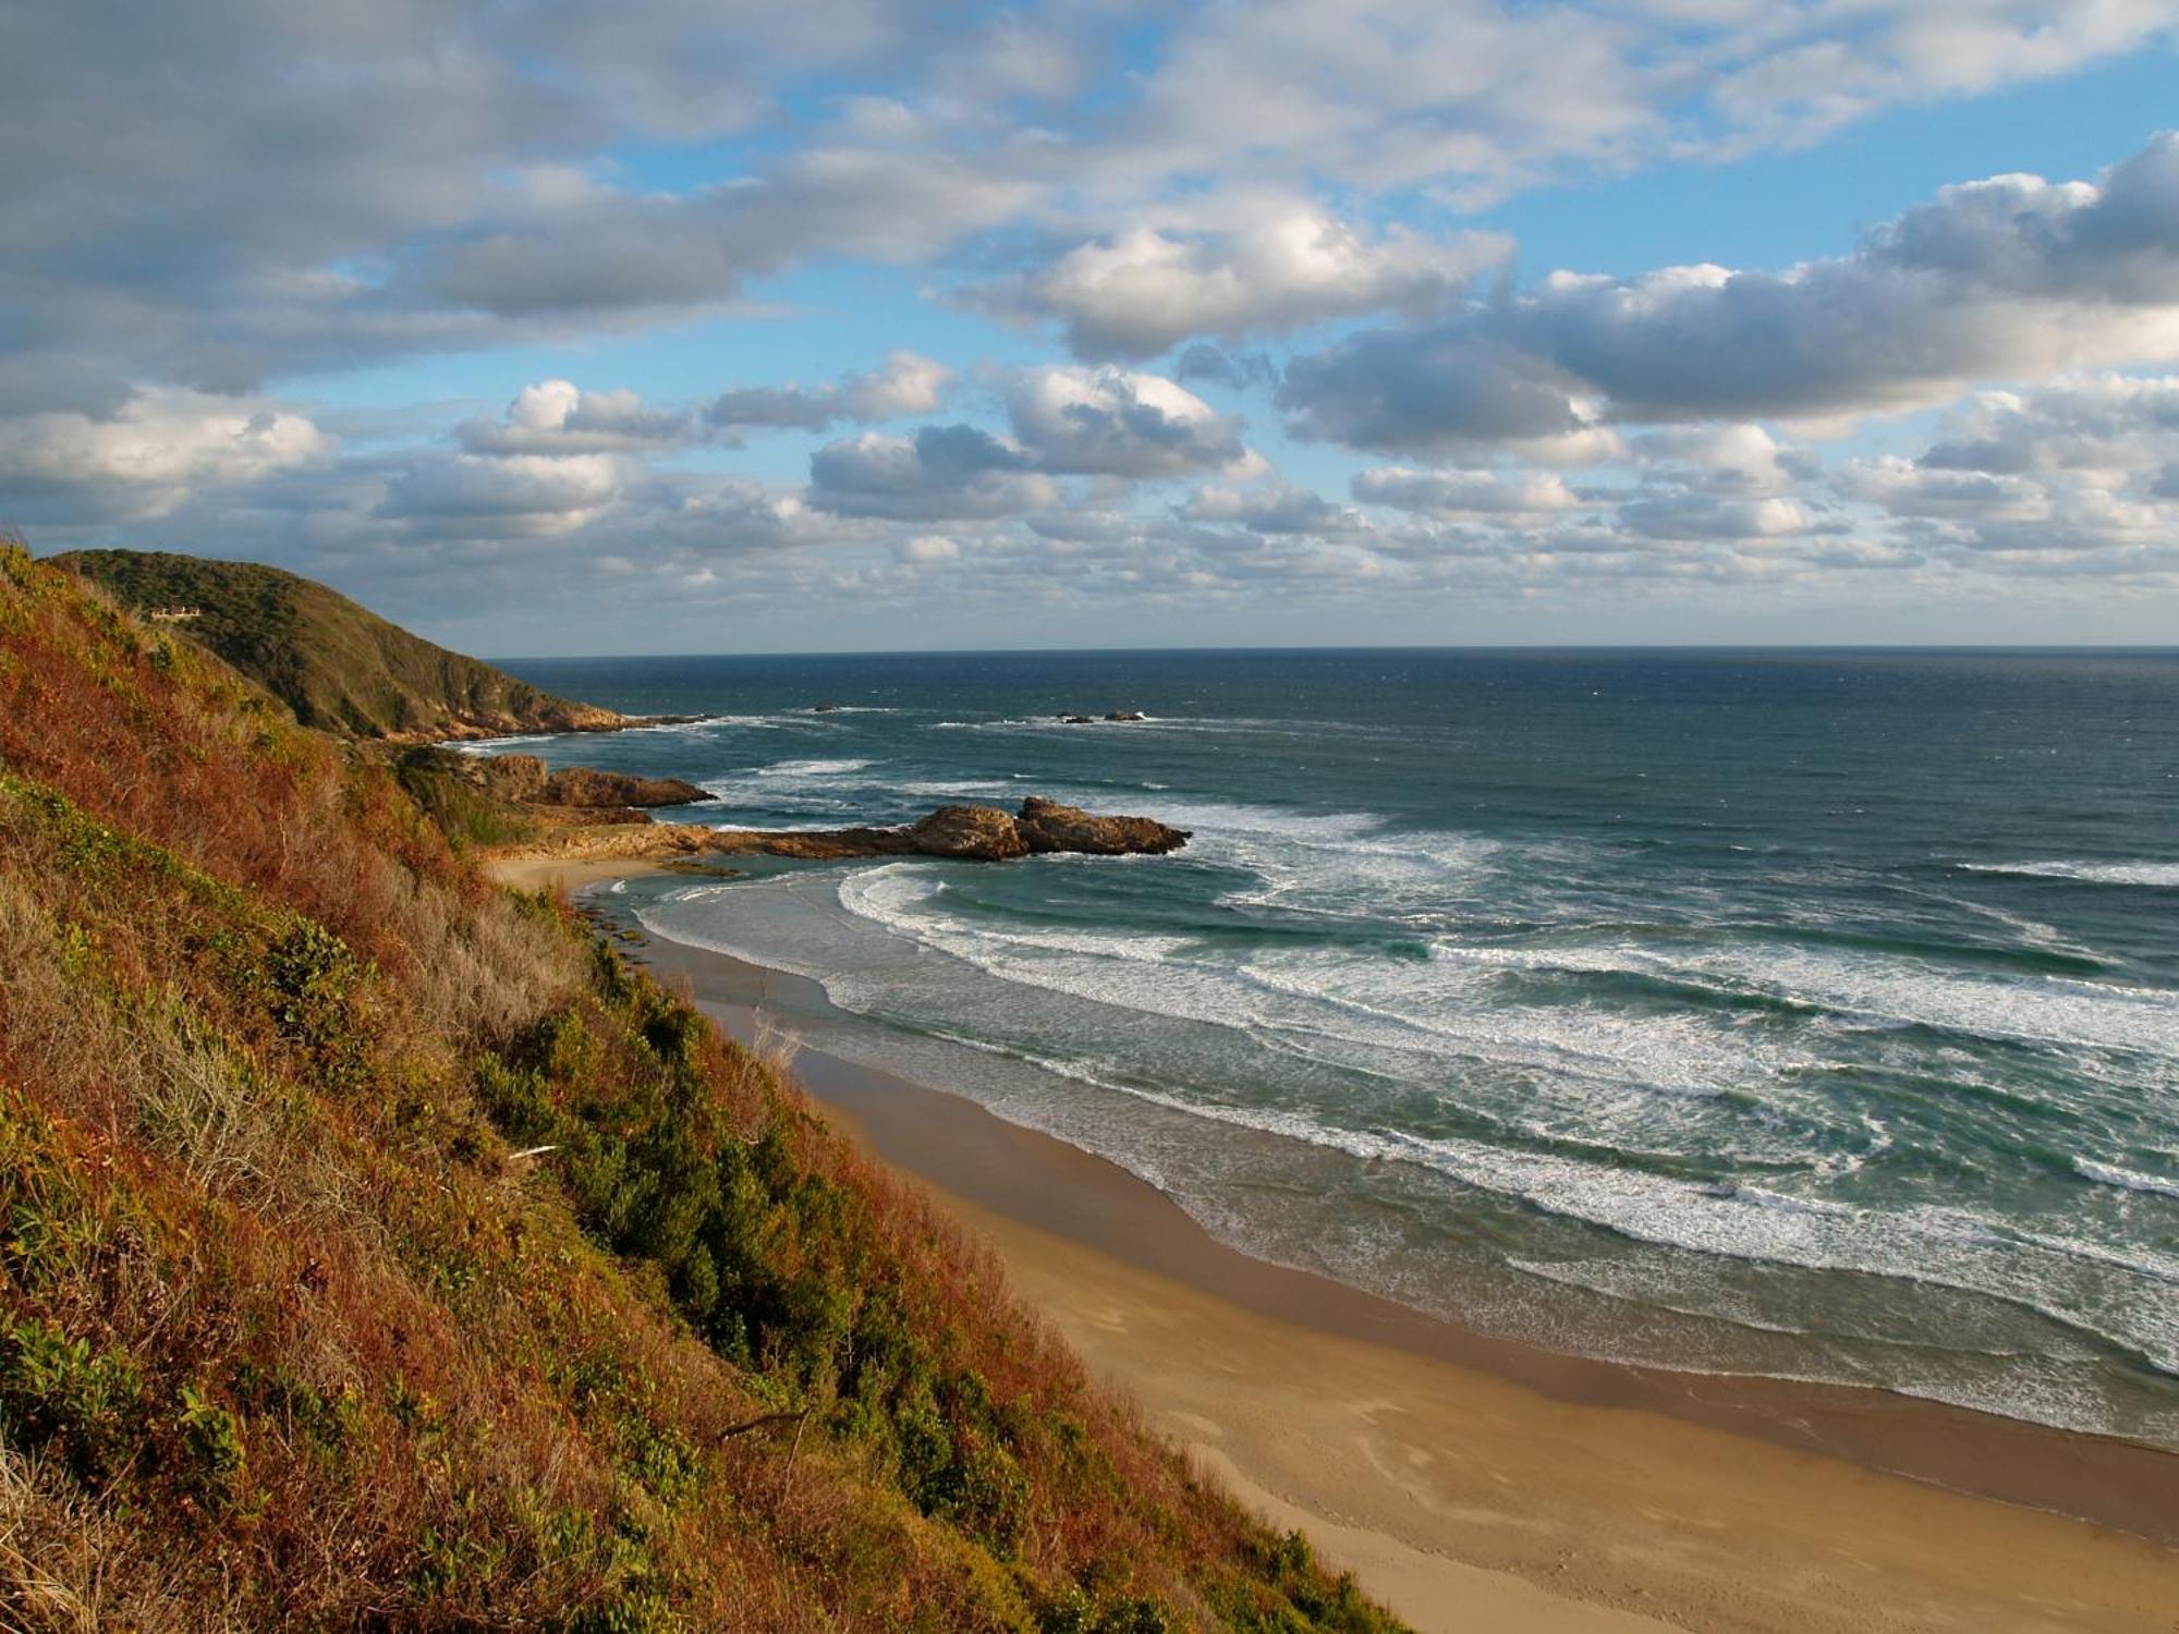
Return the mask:
<svg viewBox="0 0 2179 1634">
<path fill-rule="evenodd" d="M 516 669 L 706 715 L 519 745 L 693 778 L 704 821 L 1192 828 L 625 889 L 1240 1246 L 1569 1351 L 2179 1444 L 2179 654 Z"/>
</svg>

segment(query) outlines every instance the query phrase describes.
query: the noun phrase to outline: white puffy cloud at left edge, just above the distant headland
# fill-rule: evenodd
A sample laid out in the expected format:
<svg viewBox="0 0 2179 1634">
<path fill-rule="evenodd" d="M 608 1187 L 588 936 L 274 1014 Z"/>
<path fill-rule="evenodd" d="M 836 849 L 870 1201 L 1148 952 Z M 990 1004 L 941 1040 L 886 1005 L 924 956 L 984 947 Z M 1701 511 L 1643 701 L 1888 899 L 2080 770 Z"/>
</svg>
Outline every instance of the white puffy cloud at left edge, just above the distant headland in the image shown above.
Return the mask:
<svg viewBox="0 0 2179 1634">
<path fill-rule="evenodd" d="M 0 418 L 0 488 L 28 519 L 170 514 L 190 495 L 325 462 L 316 423 L 275 403 L 144 390 L 111 414 Z"/>
</svg>

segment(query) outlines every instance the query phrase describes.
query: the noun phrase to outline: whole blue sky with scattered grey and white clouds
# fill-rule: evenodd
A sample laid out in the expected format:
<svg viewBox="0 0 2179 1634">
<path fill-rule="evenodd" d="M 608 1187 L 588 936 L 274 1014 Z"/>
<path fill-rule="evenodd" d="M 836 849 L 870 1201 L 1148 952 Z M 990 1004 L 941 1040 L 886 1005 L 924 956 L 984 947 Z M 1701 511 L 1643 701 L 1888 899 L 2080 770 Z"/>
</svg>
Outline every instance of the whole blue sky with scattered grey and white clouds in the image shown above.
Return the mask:
<svg viewBox="0 0 2179 1634">
<path fill-rule="evenodd" d="M 2179 0 L 0 0 L 0 525 L 488 656 L 2179 638 Z"/>
</svg>

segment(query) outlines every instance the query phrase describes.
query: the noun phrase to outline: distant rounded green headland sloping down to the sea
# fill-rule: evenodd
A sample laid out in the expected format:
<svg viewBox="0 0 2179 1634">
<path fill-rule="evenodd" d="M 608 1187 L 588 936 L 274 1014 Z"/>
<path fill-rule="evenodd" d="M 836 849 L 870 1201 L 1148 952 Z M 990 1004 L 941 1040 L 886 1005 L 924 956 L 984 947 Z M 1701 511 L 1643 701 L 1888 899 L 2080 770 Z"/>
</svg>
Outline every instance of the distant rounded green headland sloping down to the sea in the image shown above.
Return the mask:
<svg viewBox="0 0 2179 1634">
<path fill-rule="evenodd" d="M 135 612 L 198 608 L 174 630 L 285 702 L 303 725 L 421 741 L 619 723 L 612 710 L 540 693 L 277 566 L 163 551 L 70 551 L 52 562 Z"/>
</svg>

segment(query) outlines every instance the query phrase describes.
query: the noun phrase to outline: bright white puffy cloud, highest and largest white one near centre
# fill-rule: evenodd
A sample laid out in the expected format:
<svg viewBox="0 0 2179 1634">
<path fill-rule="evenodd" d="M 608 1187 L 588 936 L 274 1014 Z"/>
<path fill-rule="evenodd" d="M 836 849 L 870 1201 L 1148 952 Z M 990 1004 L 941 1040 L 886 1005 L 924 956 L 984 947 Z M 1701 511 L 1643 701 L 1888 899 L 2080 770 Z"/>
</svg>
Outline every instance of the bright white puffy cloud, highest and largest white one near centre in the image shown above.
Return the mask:
<svg viewBox="0 0 2179 1634">
<path fill-rule="evenodd" d="M 1442 312 L 1510 248 L 1490 233 L 1434 242 L 1392 229 L 1364 240 L 1303 207 L 1231 233 L 1135 227 L 972 298 L 1005 316 L 1057 320 L 1079 357 L 1140 359 L 1190 336 L 1240 340 L 1325 318 Z"/>
</svg>

